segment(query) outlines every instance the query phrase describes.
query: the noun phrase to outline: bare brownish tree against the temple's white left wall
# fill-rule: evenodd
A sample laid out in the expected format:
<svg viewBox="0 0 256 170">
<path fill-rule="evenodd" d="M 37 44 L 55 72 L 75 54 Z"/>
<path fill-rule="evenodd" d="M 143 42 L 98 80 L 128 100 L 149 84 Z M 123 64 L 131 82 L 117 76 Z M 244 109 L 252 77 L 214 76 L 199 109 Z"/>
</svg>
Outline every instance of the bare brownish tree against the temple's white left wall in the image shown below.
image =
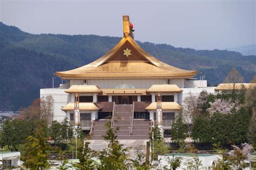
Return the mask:
<svg viewBox="0 0 256 170">
<path fill-rule="evenodd" d="M 48 124 L 51 123 L 53 111 L 52 111 L 52 104 L 53 104 L 53 97 L 52 96 L 46 96 L 41 98 L 41 112 L 40 112 L 40 118 L 45 120 Z"/>
</svg>

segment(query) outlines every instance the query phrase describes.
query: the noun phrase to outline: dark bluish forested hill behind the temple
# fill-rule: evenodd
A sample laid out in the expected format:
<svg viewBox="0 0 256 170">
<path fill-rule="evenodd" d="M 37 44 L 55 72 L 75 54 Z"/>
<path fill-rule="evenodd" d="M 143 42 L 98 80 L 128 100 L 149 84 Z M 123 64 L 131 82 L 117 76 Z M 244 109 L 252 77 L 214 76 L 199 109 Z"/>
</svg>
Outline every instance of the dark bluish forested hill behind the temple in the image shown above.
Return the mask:
<svg viewBox="0 0 256 170">
<path fill-rule="evenodd" d="M 96 35 L 33 35 L 0 23 L 0 110 L 28 106 L 39 97 L 39 89 L 52 86 L 55 71 L 88 64 L 103 56 L 120 39 Z M 250 81 L 256 72 L 256 56 L 137 43 L 167 64 L 202 72 L 212 86 L 221 83 L 233 66 L 245 81 Z M 59 83 L 60 79 L 55 78 L 55 86 Z"/>
</svg>

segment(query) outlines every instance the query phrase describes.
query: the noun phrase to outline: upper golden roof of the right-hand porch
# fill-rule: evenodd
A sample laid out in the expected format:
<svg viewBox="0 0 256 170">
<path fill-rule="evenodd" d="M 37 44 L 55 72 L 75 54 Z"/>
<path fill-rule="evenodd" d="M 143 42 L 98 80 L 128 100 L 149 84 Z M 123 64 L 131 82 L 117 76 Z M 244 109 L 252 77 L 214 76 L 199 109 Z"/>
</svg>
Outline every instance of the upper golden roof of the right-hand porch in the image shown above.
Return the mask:
<svg viewBox="0 0 256 170">
<path fill-rule="evenodd" d="M 163 85 L 152 85 L 149 89 L 147 89 L 148 93 L 180 93 L 183 90 L 179 89 L 179 87 L 175 84 L 163 84 Z"/>
</svg>

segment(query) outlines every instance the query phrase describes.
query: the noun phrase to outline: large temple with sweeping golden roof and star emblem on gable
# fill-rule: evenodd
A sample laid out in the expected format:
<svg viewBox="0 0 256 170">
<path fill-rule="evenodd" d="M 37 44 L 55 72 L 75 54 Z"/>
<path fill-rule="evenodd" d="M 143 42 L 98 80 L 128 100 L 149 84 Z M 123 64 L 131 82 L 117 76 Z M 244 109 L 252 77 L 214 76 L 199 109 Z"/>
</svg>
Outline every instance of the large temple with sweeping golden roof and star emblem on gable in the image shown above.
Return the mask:
<svg viewBox="0 0 256 170">
<path fill-rule="evenodd" d="M 120 127 L 118 139 L 149 139 L 154 124 L 169 133 L 190 92 L 214 93 L 206 80 L 193 78 L 197 71 L 168 65 L 144 51 L 133 39 L 129 16 L 123 16 L 123 33 L 120 42 L 95 62 L 55 73 L 67 83 L 41 89 L 41 97 L 54 99 L 53 120 L 68 117 L 97 140 L 111 119 L 112 126 Z"/>
</svg>

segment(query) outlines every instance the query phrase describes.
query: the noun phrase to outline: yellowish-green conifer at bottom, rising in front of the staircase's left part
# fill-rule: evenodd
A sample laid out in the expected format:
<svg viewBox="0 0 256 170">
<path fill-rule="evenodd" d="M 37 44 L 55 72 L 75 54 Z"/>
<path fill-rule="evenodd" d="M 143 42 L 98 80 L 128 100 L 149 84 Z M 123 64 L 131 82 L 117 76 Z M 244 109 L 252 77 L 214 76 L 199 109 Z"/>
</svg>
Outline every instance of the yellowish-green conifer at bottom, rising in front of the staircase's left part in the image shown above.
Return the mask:
<svg viewBox="0 0 256 170">
<path fill-rule="evenodd" d="M 104 140 L 109 142 L 107 148 L 99 152 L 100 169 L 126 169 L 126 161 L 128 159 L 128 152 L 130 148 L 124 148 L 124 145 L 119 144 L 117 140 L 118 128 L 111 127 L 109 121 L 105 125 L 106 134 Z"/>
</svg>

